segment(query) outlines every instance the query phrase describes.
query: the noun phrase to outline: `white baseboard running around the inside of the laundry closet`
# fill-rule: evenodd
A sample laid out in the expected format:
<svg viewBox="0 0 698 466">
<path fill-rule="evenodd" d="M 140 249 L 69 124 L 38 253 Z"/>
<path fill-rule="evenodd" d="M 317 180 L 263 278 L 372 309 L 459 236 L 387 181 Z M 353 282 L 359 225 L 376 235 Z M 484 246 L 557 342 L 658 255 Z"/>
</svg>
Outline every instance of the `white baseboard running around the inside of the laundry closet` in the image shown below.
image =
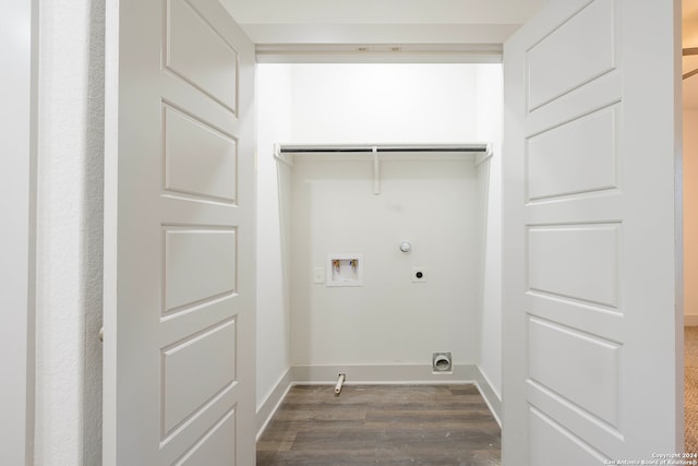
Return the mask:
<svg viewBox="0 0 698 466">
<path fill-rule="evenodd" d="M 453 372 L 433 373 L 430 365 L 385 366 L 293 366 L 279 379 L 275 389 L 260 405 L 256 414 L 257 440 L 280 406 L 291 386 L 302 384 L 334 385 L 340 373 L 346 385 L 360 384 L 456 384 L 472 383 L 478 386 L 490 411 L 502 426 L 502 401 L 488 378 L 474 365 L 454 365 Z"/>
</svg>

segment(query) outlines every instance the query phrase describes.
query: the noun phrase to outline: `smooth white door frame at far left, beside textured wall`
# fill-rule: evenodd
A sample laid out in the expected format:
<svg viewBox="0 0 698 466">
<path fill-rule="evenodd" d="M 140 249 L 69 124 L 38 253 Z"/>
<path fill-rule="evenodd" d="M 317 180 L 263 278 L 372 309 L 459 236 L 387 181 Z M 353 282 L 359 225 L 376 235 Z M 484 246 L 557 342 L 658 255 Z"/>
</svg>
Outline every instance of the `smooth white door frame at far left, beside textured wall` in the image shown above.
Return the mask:
<svg viewBox="0 0 698 466">
<path fill-rule="evenodd" d="M 0 60 L 8 64 L 0 95 L 5 105 L 0 123 L 7 131 L 0 157 L 0 212 L 10 228 L 0 240 L 7 319 L 0 326 L 2 369 L 13 381 L 0 389 L 0 463 L 34 462 L 35 290 L 36 290 L 36 163 L 38 1 L 13 0 L 0 19 Z"/>
</svg>

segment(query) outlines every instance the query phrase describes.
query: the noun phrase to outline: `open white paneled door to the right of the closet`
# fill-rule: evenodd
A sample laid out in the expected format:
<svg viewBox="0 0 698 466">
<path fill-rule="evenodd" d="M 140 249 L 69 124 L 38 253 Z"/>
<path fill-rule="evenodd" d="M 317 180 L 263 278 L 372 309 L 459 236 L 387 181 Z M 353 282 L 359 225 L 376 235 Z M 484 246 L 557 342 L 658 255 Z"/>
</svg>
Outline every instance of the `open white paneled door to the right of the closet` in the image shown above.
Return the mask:
<svg viewBox="0 0 698 466">
<path fill-rule="evenodd" d="M 677 8 L 553 1 L 505 45 L 507 466 L 683 450 Z"/>
</svg>

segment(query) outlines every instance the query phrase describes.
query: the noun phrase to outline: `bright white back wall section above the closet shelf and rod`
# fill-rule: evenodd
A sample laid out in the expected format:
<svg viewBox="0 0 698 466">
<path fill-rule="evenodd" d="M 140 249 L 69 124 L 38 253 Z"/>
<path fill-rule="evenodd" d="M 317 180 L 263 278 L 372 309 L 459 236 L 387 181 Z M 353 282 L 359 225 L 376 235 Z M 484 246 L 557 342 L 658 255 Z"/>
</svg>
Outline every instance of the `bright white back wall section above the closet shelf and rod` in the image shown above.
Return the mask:
<svg viewBox="0 0 698 466">
<path fill-rule="evenodd" d="M 294 65 L 293 141 L 472 141 L 476 79 L 474 65 Z"/>
</svg>

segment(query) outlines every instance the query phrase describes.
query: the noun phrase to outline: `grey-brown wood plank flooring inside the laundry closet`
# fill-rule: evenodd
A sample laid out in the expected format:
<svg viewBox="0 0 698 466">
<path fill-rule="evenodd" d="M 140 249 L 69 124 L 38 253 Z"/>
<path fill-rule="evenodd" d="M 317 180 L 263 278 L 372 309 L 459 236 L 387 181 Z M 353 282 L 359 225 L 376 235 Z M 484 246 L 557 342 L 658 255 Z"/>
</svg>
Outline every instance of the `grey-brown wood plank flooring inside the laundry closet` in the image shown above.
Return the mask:
<svg viewBox="0 0 698 466">
<path fill-rule="evenodd" d="M 501 464 L 474 385 L 297 385 L 257 442 L 257 466 Z"/>
</svg>

